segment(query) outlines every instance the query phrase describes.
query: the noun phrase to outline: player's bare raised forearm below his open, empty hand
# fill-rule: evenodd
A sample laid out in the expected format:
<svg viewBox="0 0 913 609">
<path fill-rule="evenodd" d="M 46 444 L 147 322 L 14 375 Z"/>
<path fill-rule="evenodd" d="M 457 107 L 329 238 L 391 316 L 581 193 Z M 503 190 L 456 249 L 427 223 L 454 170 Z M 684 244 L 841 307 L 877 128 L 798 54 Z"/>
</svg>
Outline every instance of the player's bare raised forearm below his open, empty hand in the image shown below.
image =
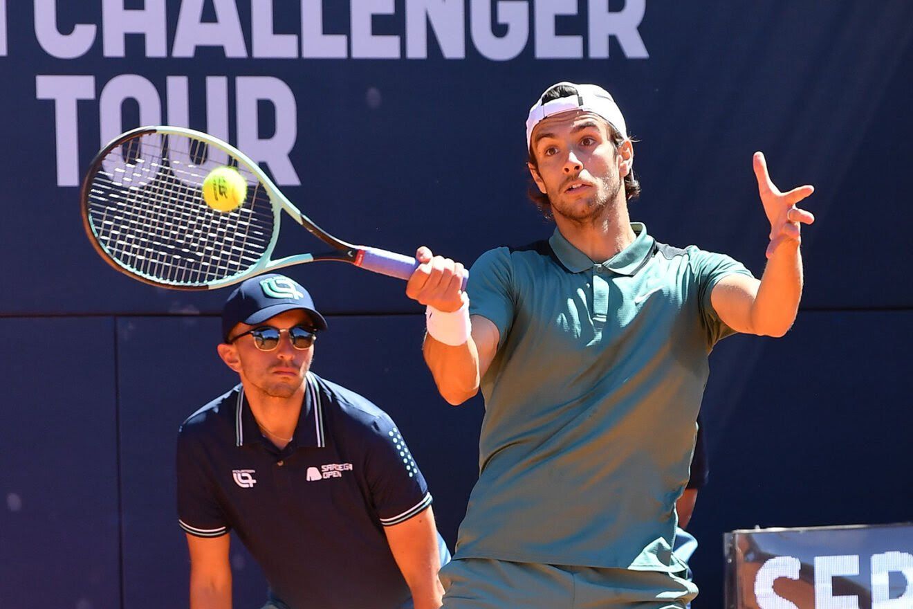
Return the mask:
<svg viewBox="0 0 913 609">
<path fill-rule="evenodd" d="M 799 244 L 785 242 L 767 261 L 751 307 L 754 333 L 782 336 L 792 327 L 802 299 L 803 268 Z"/>
</svg>

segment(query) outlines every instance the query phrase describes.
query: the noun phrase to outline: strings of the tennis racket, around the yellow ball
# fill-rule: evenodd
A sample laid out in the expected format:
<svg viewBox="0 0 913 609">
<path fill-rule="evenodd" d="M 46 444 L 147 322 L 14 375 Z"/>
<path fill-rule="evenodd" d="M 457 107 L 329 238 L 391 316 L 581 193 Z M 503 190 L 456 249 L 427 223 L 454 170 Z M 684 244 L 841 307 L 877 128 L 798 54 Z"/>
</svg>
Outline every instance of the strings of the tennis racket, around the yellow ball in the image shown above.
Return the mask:
<svg viewBox="0 0 913 609">
<path fill-rule="evenodd" d="M 181 142 L 181 139 L 184 142 Z M 275 215 L 266 188 L 244 163 L 245 203 L 230 213 L 205 204 L 202 186 L 218 164 L 205 142 L 144 134 L 115 148 L 89 188 L 89 222 L 101 247 L 131 271 L 173 285 L 205 285 L 253 267 L 268 254 Z M 210 158 L 215 151 L 209 151 Z"/>
</svg>

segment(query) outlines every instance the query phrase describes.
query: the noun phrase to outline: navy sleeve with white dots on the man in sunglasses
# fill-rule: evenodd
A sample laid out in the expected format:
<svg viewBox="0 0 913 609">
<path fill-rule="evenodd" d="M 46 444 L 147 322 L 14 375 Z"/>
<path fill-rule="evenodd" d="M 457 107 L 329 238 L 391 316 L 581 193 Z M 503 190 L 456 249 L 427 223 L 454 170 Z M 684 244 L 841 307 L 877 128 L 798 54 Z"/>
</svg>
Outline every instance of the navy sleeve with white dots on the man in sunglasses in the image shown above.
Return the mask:
<svg viewBox="0 0 913 609">
<path fill-rule="evenodd" d="M 368 488 L 378 519 L 390 527 L 431 505 L 431 493 L 393 420 L 378 416 L 371 432 L 365 465 Z"/>
</svg>

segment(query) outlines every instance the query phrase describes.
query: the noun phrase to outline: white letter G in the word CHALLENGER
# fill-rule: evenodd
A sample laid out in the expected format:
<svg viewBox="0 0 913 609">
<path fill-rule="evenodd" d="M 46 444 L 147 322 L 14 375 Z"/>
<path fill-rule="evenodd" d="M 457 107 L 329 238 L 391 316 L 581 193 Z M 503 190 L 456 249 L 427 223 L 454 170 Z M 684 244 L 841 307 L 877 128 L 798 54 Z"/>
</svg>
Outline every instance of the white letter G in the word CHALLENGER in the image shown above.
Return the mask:
<svg viewBox="0 0 913 609">
<path fill-rule="evenodd" d="M 488 59 L 507 61 L 517 57 L 530 37 L 530 5 L 521 0 L 498 0 L 498 24 L 508 26 L 502 37 L 491 31 L 491 0 L 471 0 L 469 31 L 478 52 Z"/>
</svg>

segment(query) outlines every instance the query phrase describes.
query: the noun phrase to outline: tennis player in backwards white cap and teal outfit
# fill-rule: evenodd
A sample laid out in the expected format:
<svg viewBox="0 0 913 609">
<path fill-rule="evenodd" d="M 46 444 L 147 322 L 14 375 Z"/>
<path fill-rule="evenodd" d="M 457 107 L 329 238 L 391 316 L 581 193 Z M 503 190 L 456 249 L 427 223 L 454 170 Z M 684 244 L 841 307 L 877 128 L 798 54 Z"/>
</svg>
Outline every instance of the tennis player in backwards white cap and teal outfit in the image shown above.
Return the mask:
<svg viewBox="0 0 913 609">
<path fill-rule="evenodd" d="M 795 206 L 754 157 L 770 220 L 759 281 L 731 257 L 671 247 L 631 222 L 634 145 L 612 96 L 549 87 L 526 122 L 533 198 L 555 230 L 461 265 L 432 257 L 407 294 L 428 305 L 425 361 L 451 404 L 485 396 L 479 478 L 447 609 L 684 607 L 673 553 L 708 353 L 733 332 L 782 336 L 803 286 Z"/>
</svg>

